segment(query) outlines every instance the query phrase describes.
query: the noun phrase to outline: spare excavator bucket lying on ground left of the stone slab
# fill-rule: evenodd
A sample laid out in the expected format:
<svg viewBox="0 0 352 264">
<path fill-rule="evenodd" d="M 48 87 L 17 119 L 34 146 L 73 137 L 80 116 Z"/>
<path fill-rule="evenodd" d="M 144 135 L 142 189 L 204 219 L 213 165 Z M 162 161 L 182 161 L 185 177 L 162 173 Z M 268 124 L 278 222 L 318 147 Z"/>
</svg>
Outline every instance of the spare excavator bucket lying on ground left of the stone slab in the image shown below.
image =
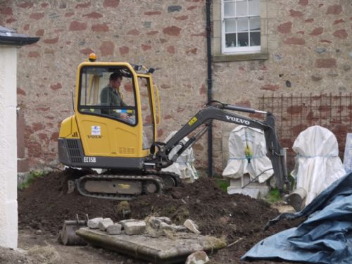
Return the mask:
<svg viewBox="0 0 352 264">
<path fill-rule="evenodd" d="M 87 220 L 79 220 L 76 215 L 76 220 L 65 220 L 63 222 L 63 228 L 58 234 L 58 242 L 64 246 L 85 246 L 87 242 L 82 237 L 77 236 L 76 230 L 81 227 L 86 227 Z"/>
</svg>

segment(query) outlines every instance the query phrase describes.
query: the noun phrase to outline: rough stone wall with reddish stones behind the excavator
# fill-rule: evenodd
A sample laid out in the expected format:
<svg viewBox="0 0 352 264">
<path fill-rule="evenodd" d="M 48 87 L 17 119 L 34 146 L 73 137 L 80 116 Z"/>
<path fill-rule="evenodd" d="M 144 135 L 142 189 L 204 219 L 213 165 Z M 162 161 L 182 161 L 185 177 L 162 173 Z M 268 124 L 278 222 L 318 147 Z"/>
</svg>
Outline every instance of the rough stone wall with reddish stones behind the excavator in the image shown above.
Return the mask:
<svg viewBox="0 0 352 264">
<path fill-rule="evenodd" d="M 213 6 L 218 3 L 214 0 Z M 214 99 L 256 108 L 263 94 L 351 91 L 351 1 L 260 4 L 265 6 L 262 27 L 268 58 L 213 63 Z M 212 19 L 218 12 L 215 7 Z M 18 56 L 18 105 L 25 117 L 26 155 L 32 169 L 58 166 L 56 139 L 61 120 L 73 114 L 75 70 L 92 51 L 100 61 L 157 69 L 161 140 L 207 100 L 204 0 L 0 0 L 0 25 L 41 37 L 37 44 L 20 49 Z M 218 172 L 225 168 L 227 137 L 233 128 L 214 122 Z M 204 136 L 194 146 L 199 166 L 207 164 L 206 141 Z"/>
</svg>

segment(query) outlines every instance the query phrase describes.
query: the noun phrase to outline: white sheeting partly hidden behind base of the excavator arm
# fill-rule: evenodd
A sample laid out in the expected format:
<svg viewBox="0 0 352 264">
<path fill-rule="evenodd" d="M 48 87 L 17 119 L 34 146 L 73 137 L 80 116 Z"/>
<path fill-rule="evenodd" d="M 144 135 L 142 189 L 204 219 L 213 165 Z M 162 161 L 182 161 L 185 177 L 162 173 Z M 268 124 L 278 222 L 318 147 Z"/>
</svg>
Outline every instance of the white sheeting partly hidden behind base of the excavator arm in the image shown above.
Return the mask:
<svg viewBox="0 0 352 264">
<path fill-rule="evenodd" d="M 168 142 L 168 140 L 175 135 L 176 132 L 177 131 L 171 132 L 165 139 L 165 142 Z M 186 143 L 188 140 L 188 137 L 184 137 L 184 139 L 182 139 L 182 143 Z M 181 149 L 180 145 L 175 146 L 175 148 L 170 151 L 169 158 L 174 156 L 179 149 Z M 193 155 L 193 149 L 189 147 L 177 158 L 174 163 L 172 163 L 172 165 L 168 166 L 168 168 L 164 168 L 163 171 L 175 172 L 181 179 L 186 180 L 187 182 L 194 182 L 199 177 L 196 168 L 194 168 L 193 165 L 194 161 L 195 158 Z"/>
</svg>

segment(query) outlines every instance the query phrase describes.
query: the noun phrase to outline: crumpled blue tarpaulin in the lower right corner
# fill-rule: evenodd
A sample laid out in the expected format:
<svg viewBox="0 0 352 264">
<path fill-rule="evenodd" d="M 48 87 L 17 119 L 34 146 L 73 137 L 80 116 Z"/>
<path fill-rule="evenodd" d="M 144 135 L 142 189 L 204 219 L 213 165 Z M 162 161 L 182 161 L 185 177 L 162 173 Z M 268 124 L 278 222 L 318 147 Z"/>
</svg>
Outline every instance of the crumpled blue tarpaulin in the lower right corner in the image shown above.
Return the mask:
<svg viewBox="0 0 352 264">
<path fill-rule="evenodd" d="M 352 173 L 334 182 L 300 212 L 283 213 L 269 225 L 306 216 L 298 227 L 260 241 L 241 260 L 352 263 Z"/>
</svg>

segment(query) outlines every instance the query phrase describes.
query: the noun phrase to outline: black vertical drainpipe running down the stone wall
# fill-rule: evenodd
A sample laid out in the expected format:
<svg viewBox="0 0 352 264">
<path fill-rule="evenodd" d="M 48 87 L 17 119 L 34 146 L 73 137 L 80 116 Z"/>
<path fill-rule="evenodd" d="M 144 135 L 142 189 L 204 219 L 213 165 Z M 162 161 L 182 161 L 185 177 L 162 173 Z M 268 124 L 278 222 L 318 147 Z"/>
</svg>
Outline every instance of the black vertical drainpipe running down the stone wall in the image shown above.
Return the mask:
<svg viewBox="0 0 352 264">
<path fill-rule="evenodd" d="M 211 77 L 211 26 L 210 26 L 210 5 L 211 0 L 206 0 L 206 49 L 208 56 L 208 101 L 213 99 L 211 87 L 213 79 Z M 208 126 L 208 177 L 213 176 L 213 122 Z"/>
</svg>

